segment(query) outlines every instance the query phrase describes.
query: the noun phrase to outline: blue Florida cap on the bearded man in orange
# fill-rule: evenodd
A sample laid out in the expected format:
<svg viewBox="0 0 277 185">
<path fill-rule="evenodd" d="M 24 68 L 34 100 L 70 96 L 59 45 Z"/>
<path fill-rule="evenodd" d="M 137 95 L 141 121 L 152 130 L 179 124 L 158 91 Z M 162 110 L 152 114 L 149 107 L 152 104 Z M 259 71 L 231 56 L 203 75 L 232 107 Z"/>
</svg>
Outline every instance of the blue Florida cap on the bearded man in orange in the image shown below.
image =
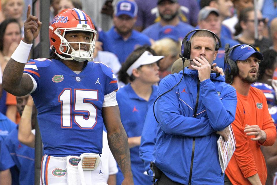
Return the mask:
<svg viewBox="0 0 277 185">
<path fill-rule="evenodd" d="M 233 49 L 230 52 L 229 56 L 230 56 L 230 59 L 232 59 L 233 61 L 237 61 L 237 60 L 244 61 L 247 58 L 249 58 L 252 54 L 256 54 L 256 57 L 260 61 L 263 60 L 263 54 L 261 54 L 260 52 L 256 52 L 253 47 L 247 44 L 243 44 L 238 47 L 235 47 L 235 49 Z"/>
</svg>

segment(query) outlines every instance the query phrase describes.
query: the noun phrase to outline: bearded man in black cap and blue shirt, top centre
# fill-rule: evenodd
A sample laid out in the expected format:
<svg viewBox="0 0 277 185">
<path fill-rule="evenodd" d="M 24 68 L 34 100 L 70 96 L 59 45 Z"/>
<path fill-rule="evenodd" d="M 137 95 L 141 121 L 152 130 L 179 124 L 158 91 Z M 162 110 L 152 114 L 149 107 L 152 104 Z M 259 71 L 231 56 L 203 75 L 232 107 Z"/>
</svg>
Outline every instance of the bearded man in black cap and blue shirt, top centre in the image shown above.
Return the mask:
<svg viewBox="0 0 277 185">
<path fill-rule="evenodd" d="M 178 15 L 180 5 L 177 0 L 159 0 L 158 10 L 161 20 L 142 31 L 153 40 L 159 40 L 159 32 L 166 25 L 175 26 L 178 30 L 178 38 L 183 39 L 185 35 L 194 29 L 192 25 L 180 21 Z"/>
</svg>

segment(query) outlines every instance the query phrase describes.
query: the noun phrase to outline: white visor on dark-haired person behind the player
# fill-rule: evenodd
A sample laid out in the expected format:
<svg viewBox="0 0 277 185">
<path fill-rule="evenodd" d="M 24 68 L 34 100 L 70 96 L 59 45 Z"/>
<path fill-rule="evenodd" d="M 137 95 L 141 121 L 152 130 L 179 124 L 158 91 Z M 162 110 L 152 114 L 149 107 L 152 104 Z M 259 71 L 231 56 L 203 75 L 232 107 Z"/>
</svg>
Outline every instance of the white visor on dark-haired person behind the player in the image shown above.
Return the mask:
<svg viewBox="0 0 277 185">
<path fill-rule="evenodd" d="M 145 51 L 140 58 L 138 58 L 128 69 L 127 69 L 127 74 L 129 76 L 132 75 L 133 69 L 137 69 L 141 65 L 147 65 L 147 64 L 152 64 L 155 63 L 159 60 L 161 60 L 164 56 L 153 56 L 150 52 Z"/>
</svg>

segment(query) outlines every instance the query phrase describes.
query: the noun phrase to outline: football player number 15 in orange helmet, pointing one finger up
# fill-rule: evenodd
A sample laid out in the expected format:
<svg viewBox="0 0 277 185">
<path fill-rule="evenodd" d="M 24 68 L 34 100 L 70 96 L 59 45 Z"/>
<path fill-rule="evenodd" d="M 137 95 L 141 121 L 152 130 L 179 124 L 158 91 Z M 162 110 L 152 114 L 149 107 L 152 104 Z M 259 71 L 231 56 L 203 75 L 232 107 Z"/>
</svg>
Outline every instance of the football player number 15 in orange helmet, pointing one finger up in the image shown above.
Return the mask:
<svg viewBox="0 0 277 185">
<path fill-rule="evenodd" d="M 133 184 L 116 77 L 103 63 L 90 62 L 96 39 L 90 17 L 79 9 L 62 10 L 49 26 L 50 58 L 27 63 L 42 25 L 30 11 L 28 6 L 24 38 L 5 68 L 2 85 L 15 96 L 29 93 L 34 99 L 45 150 L 41 184 L 106 184 L 100 157 L 103 124 L 124 175 L 122 184 Z"/>
</svg>

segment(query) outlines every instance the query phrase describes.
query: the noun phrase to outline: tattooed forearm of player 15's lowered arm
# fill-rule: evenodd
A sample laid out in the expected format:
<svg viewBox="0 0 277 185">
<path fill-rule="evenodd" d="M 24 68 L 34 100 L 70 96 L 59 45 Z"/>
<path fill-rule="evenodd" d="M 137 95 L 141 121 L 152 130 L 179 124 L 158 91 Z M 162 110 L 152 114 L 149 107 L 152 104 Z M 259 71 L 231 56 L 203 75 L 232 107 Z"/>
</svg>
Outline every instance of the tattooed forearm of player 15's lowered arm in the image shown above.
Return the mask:
<svg viewBox="0 0 277 185">
<path fill-rule="evenodd" d="M 119 132 L 108 135 L 108 143 L 111 153 L 114 155 L 114 158 L 116 159 L 122 173 L 131 172 L 128 139 L 122 126 L 119 128 Z"/>
</svg>

